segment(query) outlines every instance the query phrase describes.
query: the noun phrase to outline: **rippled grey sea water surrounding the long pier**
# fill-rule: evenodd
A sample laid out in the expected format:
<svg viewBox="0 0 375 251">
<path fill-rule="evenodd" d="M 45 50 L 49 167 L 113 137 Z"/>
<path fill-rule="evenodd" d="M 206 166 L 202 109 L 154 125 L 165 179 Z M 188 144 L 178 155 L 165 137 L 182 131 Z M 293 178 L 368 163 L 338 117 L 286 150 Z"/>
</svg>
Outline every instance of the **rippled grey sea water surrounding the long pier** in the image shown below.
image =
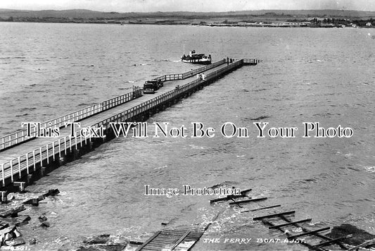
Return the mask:
<svg viewBox="0 0 375 251">
<path fill-rule="evenodd" d="M 1 135 L 22 121 L 45 121 L 131 90 L 144 80 L 189 71 L 178 62 L 186 51 L 218 61 L 262 59 L 244 66 L 155 114 L 147 122 L 201 122 L 212 138 L 117 138 L 82 159 L 61 166 L 27 187 L 61 195 L 27 209 L 25 239 L 35 250 L 72 248 L 91 235 L 110 233 L 145 240 L 160 223 L 217 221 L 203 235 L 221 243 L 194 250 L 304 250 L 301 245 L 261 244 L 278 238 L 253 216 L 206 196 L 144 196 L 153 188 L 196 188 L 216 184 L 253 188 L 253 209 L 282 204 L 295 219 L 312 218 L 315 228 L 353 224 L 375 234 L 374 225 L 374 29 L 243 28 L 154 25 L 0 23 Z M 254 119 L 274 127 L 297 127 L 295 138 L 257 138 Z M 248 128 L 248 138 L 225 138 L 230 121 Z M 303 138 L 303 122 L 325 128 L 350 127 L 350 138 Z M 190 136 L 191 134 L 189 134 Z M 276 212 L 277 209 L 269 210 Z M 46 214 L 47 230 L 37 216 Z M 284 237 L 284 236 L 283 236 Z M 225 238 L 253 238 L 247 245 Z"/>
</svg>

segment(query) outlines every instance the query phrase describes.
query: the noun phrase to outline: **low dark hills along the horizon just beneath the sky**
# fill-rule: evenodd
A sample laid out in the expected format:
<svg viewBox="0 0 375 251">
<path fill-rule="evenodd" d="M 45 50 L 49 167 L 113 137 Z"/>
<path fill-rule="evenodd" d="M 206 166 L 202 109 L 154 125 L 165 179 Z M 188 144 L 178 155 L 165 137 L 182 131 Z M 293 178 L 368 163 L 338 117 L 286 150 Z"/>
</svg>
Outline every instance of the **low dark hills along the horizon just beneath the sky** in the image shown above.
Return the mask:
<svg viewBox="0 0 375 251">
<path fill-rule="evenodd" d="M 153 24 L 199 24 L 274 22 L 307 20 L 309 18 L 346 18 L 350 20 L 375 19 L 375 11 L 343 10 L 262 10 L 229 12 L 101 12 L 85 9 L 65 11 L 20 11 L 0 9 L 0 20 L 16 22 L 52 23 L 153 23 Z"/>
</svg>

